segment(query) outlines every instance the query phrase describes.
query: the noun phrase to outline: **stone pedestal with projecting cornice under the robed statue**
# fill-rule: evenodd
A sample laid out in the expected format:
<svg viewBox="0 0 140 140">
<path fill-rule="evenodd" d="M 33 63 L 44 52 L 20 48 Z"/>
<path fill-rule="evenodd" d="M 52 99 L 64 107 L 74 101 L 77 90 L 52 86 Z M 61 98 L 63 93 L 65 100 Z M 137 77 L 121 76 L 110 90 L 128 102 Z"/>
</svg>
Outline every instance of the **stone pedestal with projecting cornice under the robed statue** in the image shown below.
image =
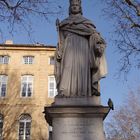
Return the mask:
<svg viewBox="0 0 140 140">
<path fill-rule="evenodd" d="M 105 140 L 103 120 L 110 109 L 92 100 L 58 98 L 45 107 L 46 121 L 53 127 L 52 140 Z"/>
</svg>

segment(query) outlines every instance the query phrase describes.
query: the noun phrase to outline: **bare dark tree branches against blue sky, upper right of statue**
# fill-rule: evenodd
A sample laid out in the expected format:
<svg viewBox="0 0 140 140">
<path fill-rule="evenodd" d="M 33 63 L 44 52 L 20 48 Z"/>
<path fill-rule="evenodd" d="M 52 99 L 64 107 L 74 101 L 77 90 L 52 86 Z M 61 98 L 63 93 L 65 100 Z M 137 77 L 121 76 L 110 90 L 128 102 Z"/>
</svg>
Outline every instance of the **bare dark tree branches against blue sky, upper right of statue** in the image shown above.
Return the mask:
<svg viewBox="0 0 140 140">
<path fill-rule="evenodd" d="M 114 44 L 121 54 L 120 72 L 140 68 L 140 1 L 101 0 L 105 14 L 113 21 Z"/>
</svg>

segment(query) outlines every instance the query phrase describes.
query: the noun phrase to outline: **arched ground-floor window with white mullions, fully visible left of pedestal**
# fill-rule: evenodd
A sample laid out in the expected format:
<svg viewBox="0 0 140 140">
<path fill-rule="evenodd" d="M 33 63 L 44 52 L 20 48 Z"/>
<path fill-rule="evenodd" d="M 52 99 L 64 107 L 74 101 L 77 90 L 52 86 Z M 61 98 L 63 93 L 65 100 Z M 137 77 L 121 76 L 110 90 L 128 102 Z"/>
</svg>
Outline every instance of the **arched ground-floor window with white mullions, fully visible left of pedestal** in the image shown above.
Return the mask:
<svg viewBox="0 0 140 140">
<path fill-rule="evenodd" d="M 31 132 L 31 117 L 28 114 L 24 114 L 19 120 L 19 140 L 30 140 Z"/>
</svg>

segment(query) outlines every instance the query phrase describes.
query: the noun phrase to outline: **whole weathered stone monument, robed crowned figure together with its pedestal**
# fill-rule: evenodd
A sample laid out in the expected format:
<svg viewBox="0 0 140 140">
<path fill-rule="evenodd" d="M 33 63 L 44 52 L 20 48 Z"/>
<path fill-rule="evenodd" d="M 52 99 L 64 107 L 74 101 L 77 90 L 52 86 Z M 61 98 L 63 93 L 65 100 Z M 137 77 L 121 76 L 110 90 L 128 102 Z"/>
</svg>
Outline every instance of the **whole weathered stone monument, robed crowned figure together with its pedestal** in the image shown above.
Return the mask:
<svg viewBox="0 0 140 140">
<path fill-rule="evenodd" d="M 106 43 L 82 15 L 81 0 L 70 0 L 69 17 L 57 20 L 55 55 L 58 95 L 45 108 L 53 140 L 105 140 L 103 120 L 110 108 L 101 105 L 99 81 L 107 73 Z"/>
</svg>

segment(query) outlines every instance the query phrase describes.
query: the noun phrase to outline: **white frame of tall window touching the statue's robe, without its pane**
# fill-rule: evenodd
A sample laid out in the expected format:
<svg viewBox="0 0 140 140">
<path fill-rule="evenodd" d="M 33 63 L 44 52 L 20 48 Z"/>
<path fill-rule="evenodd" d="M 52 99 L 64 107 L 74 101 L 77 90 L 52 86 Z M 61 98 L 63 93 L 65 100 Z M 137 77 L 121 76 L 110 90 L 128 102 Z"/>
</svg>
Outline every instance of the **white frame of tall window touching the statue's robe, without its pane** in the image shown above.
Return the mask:
<svg viewBox="0 0 140 140">
<path fill-rule="evenodd" d="M 50 88 L 50 83 L 51 83 L 50 78 L 54 79 L 53 80 L 53 84 L 54 84 L 54 86 L 53 86 L 53 90 L 54 90 L 53 91 L 53 96 L 51 96 L 51 94 L 50 94 L 50 91 L 52 91 L 52 89 Z M 57 88 L 56 88 L 55 76 L 54 75 L 49 75 L 48 76 L 48 98 L 54 98 L 57 94 L 58 94 L 58 92 L 57 92 Z"/>
</svg>

